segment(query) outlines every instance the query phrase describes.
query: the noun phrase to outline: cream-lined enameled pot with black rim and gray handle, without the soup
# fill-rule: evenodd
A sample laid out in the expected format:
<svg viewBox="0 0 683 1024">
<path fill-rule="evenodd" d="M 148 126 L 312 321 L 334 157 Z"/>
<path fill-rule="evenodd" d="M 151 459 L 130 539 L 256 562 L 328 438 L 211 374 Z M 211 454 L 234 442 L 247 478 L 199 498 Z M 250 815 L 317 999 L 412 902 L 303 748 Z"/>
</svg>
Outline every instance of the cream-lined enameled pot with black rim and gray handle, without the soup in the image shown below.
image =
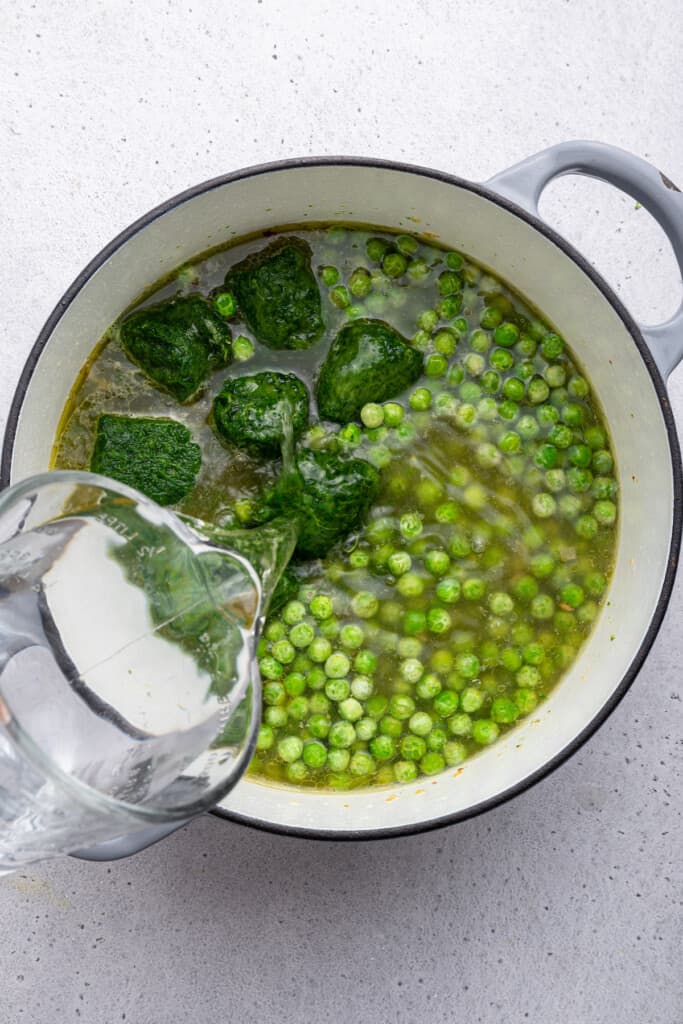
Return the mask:
<svg viewBox="0 0 683 1024">
<path fill-rule="evenodd" d="M 608 599 L 581 655 L 538 714 L 462 767 L 434 778 L 351 793 L 244 778 L 216 813 L 273 830 L 338 839 L 458 821 L 555 768 L 633 682 L 661 623 L 679 551 L 680 457 L 665 380 L 683 354 L 683 307 L 666 325 L 639 327 L 581 255 L 540 220 L 541 191 L 568 172 L 610 181 L 641 202 L 669 233 L 683 265 L 683 196 L 649 164 L 610 146 L 563 143 L 485 185 L 371 160 L 297 160 L 228 174 L 153 210 L 85 268 L 47 321 L 12 404 L 3 486 L 48 467 L 79 371 L 142 290 L 206 249 L 306 221 L 434 232 L 489 267 L 567 339 L 611 429 L 621 525 Z"/>
</svg>

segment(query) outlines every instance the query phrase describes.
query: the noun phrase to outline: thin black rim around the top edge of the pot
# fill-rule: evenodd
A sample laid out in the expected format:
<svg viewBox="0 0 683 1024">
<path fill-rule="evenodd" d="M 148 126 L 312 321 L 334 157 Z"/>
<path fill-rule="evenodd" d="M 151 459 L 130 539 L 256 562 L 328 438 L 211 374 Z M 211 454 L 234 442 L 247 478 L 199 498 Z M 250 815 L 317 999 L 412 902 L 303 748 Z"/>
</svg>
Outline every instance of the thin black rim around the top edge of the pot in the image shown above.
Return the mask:
<svg viewBox="0 0 683 1024">
<path fill-rule="evenodd" d="M 432 178 L 437 181 L 441 181 L 444 184 L 455 185 L 459 188 L 467 189 L 468 191 L 474 193 L 476 196 L 486 199 L 497 206 L 502 207 L 508 212 L 519 217 L 521 220 L 526 221 L 531 227 L 536 228 L 540 234 L 543 234 L 546 239 L 556 245 L 566 256 L 569 257 L 579 267 L 584 271 L 585 274 L 592 281 L 592 283 L 599 289 L 607 302 L 610 303 L 614 311 L 617 313 L 620 319 L 624 324 L 625 328 L 631 335 L 636 348 L 638 349 L 640 356 L 645 364 L 647 371 L 652 380 L 652 384 L 659 400 L 659 406 L 661 408 L 661 414 L 664 417 L 665 425 L 667 428 L 667 436 L 669 439 L 669 447 L 672 462 L 672 475 L 674 479 L 674 510 L 673 510 L 673 523 L 672 523 L 672 536 L 671 545 L 669 549 L 669 559 L 667 564 L 667 571 L 665 573 L 661 589 L 659 591 L 659 597 L 656 603 L 656 607 L 650 620 L 648 629 L 645 636 L 635 651 L 631 664 L 620 681 L 618 685 L 613 689 L 608 700 L 602 706 L 600 711 L 591 719 L 591 721 L 578 733 L 573 739 L 571 739 L 555 757 L 547 761 L 541 768 L 538 768 L 535 772 L 531 772 L 521 781 L 516 782 L 514 785 L 509 786 L 502 793 L 497 794 L 495 797 L 490 797 L 487 800 L 481 801 L 478 804 L 474 804 L 471 807 L 466 808 L 462 811 L 454 811 L 451 814 L 443 814 L 436 818 L 428 818 L 424 821 L 416 821 L 411 824 L 389 826 L 386 828 L 373 828 L 370 829 L 325 829 L 325 828 L 307 828 L 307 827 L 297 827 L 293 825 L 278 824 L 275 822 L 267 821 L 258 817 L 251 817 L 244 814 L 237 813 L 234 811 L 225 810 L 224 808 L 217 807 L 211 813 L 215 814 L 217 817 L 225 818 L 229 821 L 236 821 L 240 824 L 248 825 L 253 828 L 259 828 L 264 831 L 275 833 L 286 836 L 295 836 L 305 839 L 316 839 L 316 840 L 337 840 L 337 841 L 370 841 L 378 839 L 388 839 L 400 836 L 412 836 L 419 833 L 430 831 L 434 828 L 441 828 L 445 825 L 456 824 L 459 821 L 465 821 L 468 818 L 475 817 L 479 814 L 483 814 L 485 811 L 492 810 L 501 804 L 512 800 L 514 797 L 519 796 L 526 790 L 530 788 L 537 782 L 541 781 L 543 778 L 547 778 L 551 772 L 559 768 L 568 758 L 579 751 L 584 743 L 598 730 L 598 728 L 607 720 L 611 715 L 613 710 L 624 698 L 627 691 L 633 684 L 636 676 L 638 675 L 642 665 L 652 646 L 654 639 L 659 632 L 659 628 L 664 621 L 664 616 L 669 604 L 671 594 L 674 588 L 674 582 L 676 578 L 676 567 L 678 564 L 679 551 L 681 546 L 681 529 L 683 524 L 683 510 L 681 504 L 681 483 L 682 483 L 682 471 L 681 471 L 681 453 L 678 441 L 678 435 L 676 433 L 676 425 L 674 422 L 673 413 L 671 410 L 671 404 L 669 401 L 669 395 L 665 386 L 665 382 L 659 375 L 656 368 L 654 359 L 650 353 L 650 350 L 642 336 L 642 333 L 636 324 L 633 316 L 626 309 L 621 299 L 614 294 L 612 289 L 607 285 L 607 283 L 600 276 L 600 274 L 594 269 L 593 266 L 588 262 L 588 260 L 569 245 L 565 239 L 558 234 L 552 227 L 544 223 L 540 218 L 535 217 L 532 214 L 528 213 L 526 210 L 517 206 L 516 204 L 510 202 L 510 200 L 499 196 L 496 191 L 487 188 L 485 185 L 479 184 L 477 182 L 468 181 L 464 178 L 459 178 L 453 174 L 446 174 L 442 171 L 435 171 L 431 168 L 420 167 L 412 164 L 404 164 L 400 162 L 387 161 L 387 160 L 376 160 L 365 157 L 303 157 L 293 160 L 283 160 L 275 161 L 272 163 L 258 164 L 252 167 L 242 168 L 238 171 L 232 171 L 229 174 L 223 174 L 219 177 L 211 178 L 208 181 L 204 181 L 199 185 L 195 185 L 191 188 L 187 188 L 184 191 L 179 193 L 177 196 L 173 196 L 171 199 L 167 200 L 165 203 L 160 204 L 155 207 L 148 213 L 139 217 L 127 228 L 125 228 L 121 233 L 119 233 L 112 242 L 109 243 L 95 257 L 92 259 L 87 266 L 81 271 L 81 273 L 76 278 L 74 283 L 67 289 L 61 299 L 57 302 L 56 306 L 48 316 L 45 325 L 43 326 L 38 338 L 31 349 L 27 361 L 24 366 L 24 370 L 19 377 L 16 390 L 14 392 L 14 397 L 10 407 L 9 415 L 7 418 L 7 426 L 5 428 L 5 435 L 2 445 L 2 458 L 0 461 L 0 488 L 4 488 L 9 485 L 10 470 L 11 470 L 11 459 L 14 449 L 14 441 L 16 437 L 16 428 L 18 423 L 19 414 L 22 411 L 22 406 L 24 403 L 24 398 L 26 396 L 27 389 L 29 387 L 29 382 L 33 377 L 34 370 L 37 366 L 38 359 L 41 352 L 45 348 L 54 328 L 57 323 L 74 301 L 76 296 L 79 294 L 83 286 L 89 281 L 89 279 L 95 273 L 96 270 L 118 250 L 129 241 L 134 234 L 142 230 L 153 221 L 157 220 L 159 217 L 168 213 L 169 211 L 175 209 L 176 207 L 188 202 L 189 200 L 196 199 L 198 196 L 202 196 L 205 193 L 211 191 L 214 188 L 220 188 L 223 185 L 229 184 L 231 182 L 241 181 L 246 178 L 257 177 L 261 174 L 269 174 L 278 171 L 290 171 L 295 169 L 307 169 L 313 167 L 330 167 L 330 166 L 346 166 L 346 167 L 371 167 L 379 168 L 382 170 L 398 171 L 408 174 L 415 174 L 421 177 Z"/>
</svg>

